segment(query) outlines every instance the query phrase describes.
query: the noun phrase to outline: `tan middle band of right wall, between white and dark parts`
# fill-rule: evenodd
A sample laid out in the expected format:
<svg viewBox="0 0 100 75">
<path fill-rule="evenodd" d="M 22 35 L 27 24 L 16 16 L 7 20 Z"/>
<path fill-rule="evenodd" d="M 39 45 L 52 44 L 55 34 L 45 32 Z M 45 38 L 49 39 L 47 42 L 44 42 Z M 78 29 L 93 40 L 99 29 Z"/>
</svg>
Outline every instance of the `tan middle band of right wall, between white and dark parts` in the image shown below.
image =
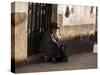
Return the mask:
<svg viewBox="0 0 100 75">
<path fill-rule="evenodd" d="M 66 25 L 60 27 L 58 34 L 61 38 L 69 39 L 70 37 L 91 35 L 95 33 L 94 24 L 85 25 Z"/>
</svg>

